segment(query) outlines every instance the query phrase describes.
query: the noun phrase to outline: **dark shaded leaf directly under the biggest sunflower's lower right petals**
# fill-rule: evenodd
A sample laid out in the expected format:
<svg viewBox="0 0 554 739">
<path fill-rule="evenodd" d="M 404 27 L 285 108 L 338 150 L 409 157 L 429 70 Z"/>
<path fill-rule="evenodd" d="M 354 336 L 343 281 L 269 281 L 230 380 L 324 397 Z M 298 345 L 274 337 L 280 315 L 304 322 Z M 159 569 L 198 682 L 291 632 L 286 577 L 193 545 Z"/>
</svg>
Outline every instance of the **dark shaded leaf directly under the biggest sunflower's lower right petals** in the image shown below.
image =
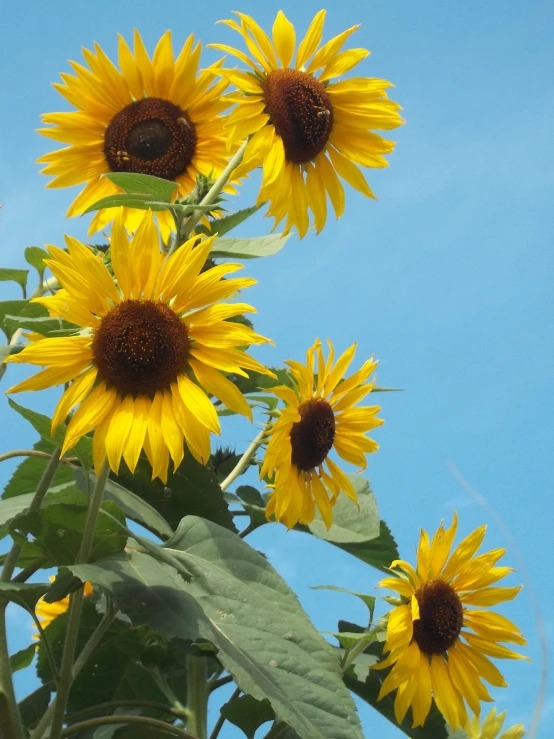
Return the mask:
<svg viewBox="0 0 554 739">
<path fill-rule="evenodd" d="M 151 478 L 151 467 L 141 458 L 133 475 L 122 464 L 115 479 L 151 505 L 172 528 L 183 516 L 195 515 L 236 531 L 217 477 L 191 454 L 185 454 L 177 471 L 168 474 L 167 485 Z"/>
</svg>

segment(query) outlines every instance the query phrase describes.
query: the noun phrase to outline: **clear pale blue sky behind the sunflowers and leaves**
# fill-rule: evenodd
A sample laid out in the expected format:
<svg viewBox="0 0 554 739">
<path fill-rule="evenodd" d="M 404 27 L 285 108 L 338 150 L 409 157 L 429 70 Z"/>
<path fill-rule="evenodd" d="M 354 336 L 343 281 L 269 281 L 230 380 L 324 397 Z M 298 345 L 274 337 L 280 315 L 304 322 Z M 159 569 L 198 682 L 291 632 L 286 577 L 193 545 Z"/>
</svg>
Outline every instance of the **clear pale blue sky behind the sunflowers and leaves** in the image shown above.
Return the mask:
<svg viewBox="0 0 554 739">
<path fill-rule="evenodd" d="M 235 8 L 268 30 L 282 8 L 300 34 L 320 5 L 213 0 L 202 4 L 202 13 L 197 4 L 162 0 L 10 6 L 0 44 L 2 266 L 24 266 L 24 247 L 59 244 L 63 231 L 85 235 L 85 219 L 64 221 L 76 189 L 45 190 L 34 163 L 54 143 L 34 133 L 39 114 L 68 109 L 50 86 L 69 71 L 67 59 L 81 61 L 80 46 L 93 41 L 113 58 L 117 33 L 129 39 L 133 26 L 150 50 L 166 28 L 174 45 L 191 32 L 204 43 L 234 43 L 233 32 L 214 23 Z M 419 528 L 436 528 L 454 508 L 463 535 L 489 523 L 489 547 L 506 545 L 450 464 L 502 519 L 530 573 L 522 594 L 502 612 L 527 635 L 533 662 L 501 665 L 510 687 L 493 695 L 500 709 L 509 708 L 510 724 L 528 725 L 540 673 L 529 586 L 554 642 L 548 575 L 554 556 L 554 6 L 546 0 L 343 0 L 328 7 L 325 38 L 354 23 L 362 27 L 351 45 L 372 51 L 360 73 L 395 83 L 391 97 L 403 106 L 407 124 L 392 132 L 398 143 L 391 166 L 368 172 L 378 202 L 347 191 L 344 217 L 331 218 L 320 236 L 293 237 L 276 257 L 248 264 L 259 280 L 248 295 L 259 312 L 256 328 L 277 344 L 258 356 L 277 364 L 301 358 L 316 336 L 331 337 L 339 349 L 357 340 L 359 362 L 372 353 L 380 360 L 379 384 L 406 389 L 378 397 L 386 424 L 375 433 L 381 449 L 368 465 L 381 515 L 404 558 L 413 558 Z M 203 61 L 215 58 L 207 50 Z M 242 206 L 254 200 L 258 182 L 254 175 Z M 241 235 L 267 233 L 270 223 L 251 220 Z M 2 283 L 2 299 L 10 297 L 17 290 Z M 21 400 L 47 410 L 55 397 Z M 2 451 L 28 447 L 29 428 L 0 402 L 2 418 L 9 418 L 0 431 Z M 247 424 L 229 428 L 239 448 L 253 434 Z M 0 481 L 12 468 L 2 465 Z M 250 540 L 268 552 L 318 628 L 363 618 L 347 596 L 309 586 L 373 592 L 377 573 L 278 526 Z M 520 570 L 511 584 L 521 582 L 512 548 L 505 559 Z M 25 646 L 30 633 L 19 615 L 13 613 L 14 649 Z M 18 689 L 24 694 L 32 685 L 33 676 L 24 675 Z M 371 709 L 360 711 L 368 736 L 400 736 Z M 551 736 L 553 726 L 551 686 L 538 736 Z M 224 735 L 235 736 L 230 729 Z"/>
</svg>

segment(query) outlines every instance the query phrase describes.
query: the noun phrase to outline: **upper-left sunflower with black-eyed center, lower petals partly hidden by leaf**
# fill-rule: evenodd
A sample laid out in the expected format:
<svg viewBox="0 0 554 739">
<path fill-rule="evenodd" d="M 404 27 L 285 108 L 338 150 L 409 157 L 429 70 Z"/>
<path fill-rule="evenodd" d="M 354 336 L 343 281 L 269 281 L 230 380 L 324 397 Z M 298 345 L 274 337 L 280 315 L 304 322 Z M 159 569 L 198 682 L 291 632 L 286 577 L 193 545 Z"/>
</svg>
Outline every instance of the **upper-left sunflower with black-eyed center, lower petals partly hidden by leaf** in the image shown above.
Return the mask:
<svg viewBox="0 0 554 739">
<path fill-rule="evenodd" d="M 194 36 L 174 59 L 171 32 L 160 38 L 152 59 L 138 31 L 134 50 L 119 36 L 119 67 L 98 44 L 83 49 L 88 68 L 70 62 L 74 75 L 62 74 L 54 87 L 77 110 L 47 113 L 43 136 L 69 144 L 38 159 L 42 172 L 55 175 L 48 187 L 86 183 L 67 216 L 77 216 L 100 198 L 121 192 L 102 175 L 137 172 L 173 180 L 176 197 L 189 195 L 199 173 L 214 175 L 227 164 L 224 117 L 229 102 L 221 97 L 224 80 L 212 84 L 211 72 L 197 74 L 201 45 Z M 217 65 L 216 65 L 217 66 Z M 109 223 L 118 209 L 99 211 L 89 234 Z M 125 208 L 126 225 L 134 231 L 141 211 Z M 173 219 L 157 214 L 167 239 Z"/>
</svg>

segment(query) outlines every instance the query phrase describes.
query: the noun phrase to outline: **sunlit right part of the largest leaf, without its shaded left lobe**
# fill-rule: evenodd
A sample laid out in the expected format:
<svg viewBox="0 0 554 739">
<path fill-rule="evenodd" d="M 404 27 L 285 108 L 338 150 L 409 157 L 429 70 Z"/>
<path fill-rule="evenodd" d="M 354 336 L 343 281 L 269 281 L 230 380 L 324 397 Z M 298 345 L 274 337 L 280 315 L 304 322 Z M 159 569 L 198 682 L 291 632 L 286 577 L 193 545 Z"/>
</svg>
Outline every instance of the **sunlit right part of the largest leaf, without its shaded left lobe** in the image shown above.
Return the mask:
<svg viewBox="0 0 554 739">
<path fill-rule="evenodd" d="M 262 555 L 193 516 L 165 547 L 190 569 L 185 588 L 210 620 L 218 658 L 245 693 L 268 698 L 303 739 L 362 736 L 333 648 Z"/>
</svg>

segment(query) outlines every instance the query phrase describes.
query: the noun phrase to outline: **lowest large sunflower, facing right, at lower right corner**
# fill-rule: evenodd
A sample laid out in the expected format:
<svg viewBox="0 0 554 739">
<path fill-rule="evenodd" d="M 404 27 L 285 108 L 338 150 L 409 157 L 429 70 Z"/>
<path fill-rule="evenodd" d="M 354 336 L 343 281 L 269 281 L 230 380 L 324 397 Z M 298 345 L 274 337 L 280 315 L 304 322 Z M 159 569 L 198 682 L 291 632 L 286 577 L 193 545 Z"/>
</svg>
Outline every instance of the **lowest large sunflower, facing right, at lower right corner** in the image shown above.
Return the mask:
<svg viewBox="0 0 554 739">
<path fill-rule="evenodd" d="M 437 529 L 433 540 L 422 529 L 416 569 L 396 560 L 399 577 L 378 587 L 395 590 L 402 600 L 388 618 L 384 651 L 389 656 L 374 669 L 392 670 L 383 681 L 379 699 L 398 688 L 394 711 L 402 723 L 410 705 L 413 726 L 423 726 L 434 698 L 452 729 L 466 725 L 465 704 L 478 716 L 481 701 L 491 701 L 485 679 L 495 687 L 506 682 L 489 657 L 527 659 L 499 642 L 526 644 L 520 630 L 504 616 L 486 608 L 511 600 L 521 587 L 490 587 L 513 570 L 496 567 L 505 549 L 474 556 L 485 536 L 480 526 L 450 555 L 458 518 Z"/>
</svg>

